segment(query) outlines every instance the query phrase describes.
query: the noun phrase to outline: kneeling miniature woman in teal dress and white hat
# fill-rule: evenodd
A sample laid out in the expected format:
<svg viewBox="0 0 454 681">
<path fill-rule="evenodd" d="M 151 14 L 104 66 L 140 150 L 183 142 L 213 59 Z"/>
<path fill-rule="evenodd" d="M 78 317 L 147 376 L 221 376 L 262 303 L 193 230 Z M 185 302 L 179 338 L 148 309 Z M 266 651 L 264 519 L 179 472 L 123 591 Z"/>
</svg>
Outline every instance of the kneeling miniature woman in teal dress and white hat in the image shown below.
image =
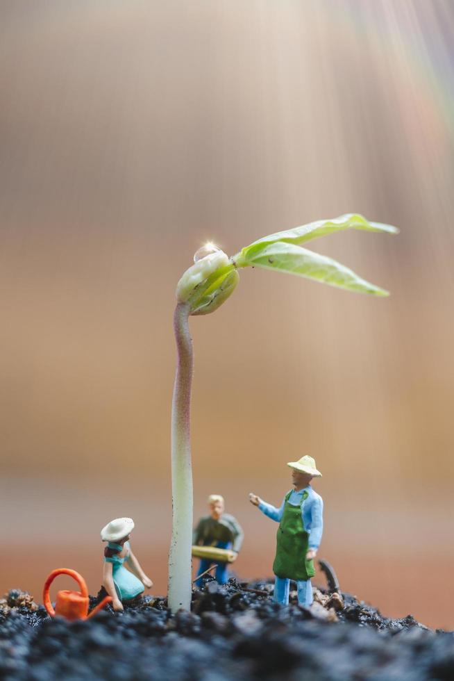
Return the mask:
<svg viewBox="0 0 454 681">
<path fill-rule="evenodd" d="M 107 541 L 104 550 L 103 591 L 112 596 L 114 610 L 123 610 L 123 602 L 140 596 L 144 587 L 151 589 L 153 582 L 146 576 L 139 561 L 131 551 L 129 539 L 134 529 L 132 518 L 115 518 L 101 530 L 101 540 Z M 128 564 L 129 570 L 124 566 Z"/>
</svg>

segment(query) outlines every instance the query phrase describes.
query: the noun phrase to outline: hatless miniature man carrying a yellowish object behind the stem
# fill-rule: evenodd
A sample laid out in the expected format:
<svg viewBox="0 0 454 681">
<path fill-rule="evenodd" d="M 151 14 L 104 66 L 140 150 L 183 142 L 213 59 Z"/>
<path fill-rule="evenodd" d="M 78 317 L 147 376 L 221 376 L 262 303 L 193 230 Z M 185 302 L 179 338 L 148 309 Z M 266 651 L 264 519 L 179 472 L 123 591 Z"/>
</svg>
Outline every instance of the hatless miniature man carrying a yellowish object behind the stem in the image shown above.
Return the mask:
<svg viewBox="0 0 454 681">
<path fill-rule="evenodd" d="M 197 553 L 196 547 L 215 547 L 216 557 L 210 557 L 209 551 L 206 557 L 200 561 L 197 576 L 208 571 L 208 568 L 215 562 L 217 568 L 215 579 L 219 584 L 225 584 L 228 580 L 228 564 L 237 559 L 237 555 L 243 543 L 244 533 L 236 518 L 224 513 L 224 497 L 219 494 L 210 494 L 208 497 L 208 508 L 210 515 L 199 520 L 194 530 L 192 543 L 194 544 L 194 554 Z M 219 549 L 224 552 L 219 556 Z M 219 556 L 219 557 L 218 557 Z M 197 580 L 196 585 L 201 586 L 201 579 Z"/>
</svg>

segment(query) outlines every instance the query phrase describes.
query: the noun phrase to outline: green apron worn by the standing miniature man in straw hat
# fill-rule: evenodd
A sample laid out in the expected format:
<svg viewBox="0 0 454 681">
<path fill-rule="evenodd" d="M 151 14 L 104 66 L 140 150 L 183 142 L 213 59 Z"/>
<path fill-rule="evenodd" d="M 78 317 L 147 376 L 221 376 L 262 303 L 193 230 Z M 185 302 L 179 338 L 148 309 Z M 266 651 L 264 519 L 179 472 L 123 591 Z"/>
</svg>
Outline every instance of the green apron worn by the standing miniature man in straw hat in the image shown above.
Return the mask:
<svg viewBox="0 0 454 681">
<path fill-rule="evenodd" d="M 276 535 L 276 558 L 273 563 L 273 572 L 276 577 L 299 582 L 299 580 L 308 580 L 315 574 L 314 561 L 306 560 L 309 537 L 304 530 L 301 516 L 301 504 L 308 498 L 308 492 L 303 492 L 299 506 L 289 504 L 291 494 L 290 491 L 285 497 L 284 513 Z"/>
</svg>

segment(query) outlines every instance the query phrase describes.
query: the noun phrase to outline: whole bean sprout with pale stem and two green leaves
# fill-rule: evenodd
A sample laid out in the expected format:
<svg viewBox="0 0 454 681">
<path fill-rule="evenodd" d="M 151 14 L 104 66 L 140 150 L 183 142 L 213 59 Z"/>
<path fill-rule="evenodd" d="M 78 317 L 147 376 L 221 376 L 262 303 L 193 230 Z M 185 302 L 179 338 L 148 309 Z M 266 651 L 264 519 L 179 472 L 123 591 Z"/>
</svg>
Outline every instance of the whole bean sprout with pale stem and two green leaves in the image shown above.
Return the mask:
<svg viewBox="0 0 454 681">
<path fill-rule="evenodd" d="M 191 604 L 190 404 L 193 352 L 189 317 L 210 314 L 217 310 L 235 290 L 239 281 L 237 270 L 249 266 L 280 270 L 360 293 L 389 295 L 386 290 L 370 284 L 345 265 L 301 246 L 311 239 L 344 229 L 387 233 L 398 231 L 390 224 L 369 222 L 362 215 L 350 213 L 334 220 L 318 220 L 302 227 L 264 236 L 230 259 L 215 244 L 206 243 L 194 255 L 194 265 L 178 281 L 174 313 L 178 364 L 171 418 L 173 525 L 169 553 L 169 607 L 172 612 L 180 608 L 189 610 Z"/>
</svg>

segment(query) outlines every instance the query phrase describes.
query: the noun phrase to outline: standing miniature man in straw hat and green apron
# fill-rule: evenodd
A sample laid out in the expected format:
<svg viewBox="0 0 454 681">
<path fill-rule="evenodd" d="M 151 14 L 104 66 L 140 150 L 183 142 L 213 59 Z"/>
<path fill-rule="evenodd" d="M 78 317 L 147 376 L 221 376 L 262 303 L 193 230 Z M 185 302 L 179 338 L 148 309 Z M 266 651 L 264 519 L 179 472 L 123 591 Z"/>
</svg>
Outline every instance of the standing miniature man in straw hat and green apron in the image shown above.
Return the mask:
<svg viewBox="0 0 454 681">
<path fill-rule="evenodd" d="M 274 600 L 281 605 L 289 602 L 289 580 L 298 588 L 298 602 L 308 607 L 312 604 L 314 557 L 323 532 L 323 500 L 310 486 L 313 477 L 321 477 L 312 457 L 290 461 L 294 489 L 285 495 L 276 509 L 257 495 L 250 493 L 249 500 L 260 511 L 279 523 L 276 536 L 276 557 L 273 572 L 276 575 Z"/>
</svg>

